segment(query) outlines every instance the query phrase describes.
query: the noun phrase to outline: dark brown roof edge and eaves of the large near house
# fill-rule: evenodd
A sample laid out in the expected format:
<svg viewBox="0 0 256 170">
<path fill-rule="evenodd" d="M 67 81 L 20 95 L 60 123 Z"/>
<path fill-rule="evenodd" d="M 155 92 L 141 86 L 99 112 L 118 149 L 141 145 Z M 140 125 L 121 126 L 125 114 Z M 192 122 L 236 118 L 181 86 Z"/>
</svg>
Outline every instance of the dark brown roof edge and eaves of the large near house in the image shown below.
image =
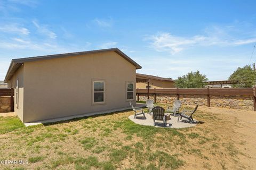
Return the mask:
<svg viewBox="0 0 256 170">
<path fill-rule="evenodd" d="M 19 67 L 25 63 L 25 62 L 33 62 L 33 61 L 40 61 L 40 60 L 49 60 L 52 58 L 62 58 L 62 57 L 71 57 L 71 56 L 78 56 L 78 55 L 84 55 L 84 54 L 93 54 L 93 53 L 101 53 L 101 52 L 116 52 L 120 56 L 122 56 L 125 60 L 133 64 L 136 69 L 141 69 L 141 66 L 133 61 L 129 56 L 124 54 L 120 49 L 118 48 L 108 48 L 108 49 L 99 49 L 99 50 L 91 50 L 86 52 L 76 52 L 76 53 L 65 53 L 65 54 L 54 54 L 54 55 L 44 55 L 44 56 L 36 56 L 36 57 L 27 57 L 27 58 L 18 58 L 13 59 L 11 61 L 11 64 L 9 66 L 9 69 L 7 71 L 7 74 L 5 76 L 4 82 L 7 82 L 10 80 L 12 75 L 19 69 Z"/>
</svg>

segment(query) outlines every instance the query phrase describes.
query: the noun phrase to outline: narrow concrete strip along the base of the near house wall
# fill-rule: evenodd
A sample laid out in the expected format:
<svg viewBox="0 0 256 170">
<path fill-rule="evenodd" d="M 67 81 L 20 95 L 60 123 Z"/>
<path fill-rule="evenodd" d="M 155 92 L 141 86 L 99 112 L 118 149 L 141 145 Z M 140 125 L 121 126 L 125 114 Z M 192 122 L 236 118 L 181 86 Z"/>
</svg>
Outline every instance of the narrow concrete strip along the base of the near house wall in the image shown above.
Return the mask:
<svg viewBox="0 0 256 170">
<path fill-rule="evenodd" d="M 52 122 L 66 121 L 66 120 L 71 120 L 73 118 L 92 116 L 92 115 L 99 115 L 99 114 L 105 114 L 105 113 L 111 113 L 111 112 L 117 112 L 117 111 L 124 111 L 124 110 L 127 110 L 127 109 L 131 109 L 131 107 L 123 107 L 123 108 L 111 109 L 111 110 L 108 110 L 108 111 L 86 113 L 86 114 L 82 114 L 82 115 L 73 115 L 73 116 L 67 116 L 67 117 L 52 118 L 52 119 L 49 119 L 49 120 L 24 123 L 24 125 L 26 127 L 27 126 L 34 126 L 34 125 L 43 124 L 43 123 L 52 123 Z"/>
</svg>

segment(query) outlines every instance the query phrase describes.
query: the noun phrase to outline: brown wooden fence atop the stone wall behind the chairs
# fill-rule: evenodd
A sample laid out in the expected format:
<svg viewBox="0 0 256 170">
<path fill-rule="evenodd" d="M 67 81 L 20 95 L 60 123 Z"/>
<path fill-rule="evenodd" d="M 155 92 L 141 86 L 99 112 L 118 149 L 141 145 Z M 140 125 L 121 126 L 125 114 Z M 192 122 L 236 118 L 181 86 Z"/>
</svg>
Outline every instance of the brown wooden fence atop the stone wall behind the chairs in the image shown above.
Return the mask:
<svg viewBox="0 0 256 170">
<path fill-rule="evenodd" d="M 177 95 L 177 99 L 180 98 L 180 95 L 205 95 L 207 96 L 207 106 L 210 107 L 210 96 L 216 95 L 230 95 L 230 96 L 252 96 L 253 97 L 253 107 L 256 111 L 256 88 L 196 88 L 196 89 L 136 89 L 137 100 L 139 101 L 140 94 L 147 94 L 148 99 L 149 95 L 154 95 L 154 100 L 156 103 L 157 94 L 168 94 L 168 95 Z"/>
</svg>

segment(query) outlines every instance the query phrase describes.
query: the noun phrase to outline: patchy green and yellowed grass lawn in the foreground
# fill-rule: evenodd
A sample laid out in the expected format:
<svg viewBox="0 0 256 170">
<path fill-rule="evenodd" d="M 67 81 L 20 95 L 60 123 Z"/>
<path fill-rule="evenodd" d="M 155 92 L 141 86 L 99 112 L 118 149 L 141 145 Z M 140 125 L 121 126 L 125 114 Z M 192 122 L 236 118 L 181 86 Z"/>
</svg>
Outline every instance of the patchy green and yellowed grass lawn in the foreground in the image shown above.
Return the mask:
<svg viewBox="0 0 256 170">
<path fill-rule="evenodd" d="M 28 160 L 0 169 L 254 169 L 235 116 L 199 109 L 195 118 L 204 123 L 168 129 L 135 124 L 131 114 L 28 128 L 18 117 L 0 117 L 0 160 Z"/>
</svg>

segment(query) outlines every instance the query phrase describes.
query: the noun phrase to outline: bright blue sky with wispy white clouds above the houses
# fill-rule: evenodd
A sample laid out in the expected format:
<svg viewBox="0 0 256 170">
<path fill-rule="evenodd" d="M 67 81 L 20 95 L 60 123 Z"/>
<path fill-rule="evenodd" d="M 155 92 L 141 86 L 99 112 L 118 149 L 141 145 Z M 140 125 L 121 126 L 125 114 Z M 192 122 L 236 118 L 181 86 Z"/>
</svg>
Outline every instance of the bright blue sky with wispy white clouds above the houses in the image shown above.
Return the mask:
<svg viewBox="0 0 256 170">
<path fill-rule="evenodd" d="M 114 47 L 137 73 L 226 80 L 255 42 L 255 1 L 0 0 L 0 80 L 13 58 Z"/>
</svg>

